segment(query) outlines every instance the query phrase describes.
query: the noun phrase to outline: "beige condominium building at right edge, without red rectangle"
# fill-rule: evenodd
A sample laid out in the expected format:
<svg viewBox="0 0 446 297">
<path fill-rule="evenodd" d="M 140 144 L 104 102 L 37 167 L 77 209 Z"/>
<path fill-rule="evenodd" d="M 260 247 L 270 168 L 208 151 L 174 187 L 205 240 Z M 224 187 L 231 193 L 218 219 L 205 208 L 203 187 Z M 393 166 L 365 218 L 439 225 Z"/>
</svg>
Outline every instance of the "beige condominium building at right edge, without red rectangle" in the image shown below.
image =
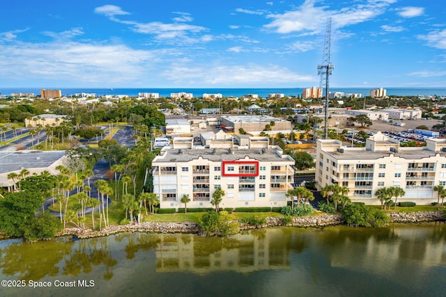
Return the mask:
<svg viewBox="0 0 446 297">
<path fill-rule="evenodd" d="M 426 147 L 400 147 L 399 142 L 378 132 L 365 147 L 344 147 L 341 141 L 318 139 L 316 182 L 349 189 L 353 202 L 380 204 L 376 191 L 399 186 L 406 194 L 399 202 L 430 204 L 437 201 L 434 186 L 446 186 L 446 139 L 429 138 Z"/>
</svg>

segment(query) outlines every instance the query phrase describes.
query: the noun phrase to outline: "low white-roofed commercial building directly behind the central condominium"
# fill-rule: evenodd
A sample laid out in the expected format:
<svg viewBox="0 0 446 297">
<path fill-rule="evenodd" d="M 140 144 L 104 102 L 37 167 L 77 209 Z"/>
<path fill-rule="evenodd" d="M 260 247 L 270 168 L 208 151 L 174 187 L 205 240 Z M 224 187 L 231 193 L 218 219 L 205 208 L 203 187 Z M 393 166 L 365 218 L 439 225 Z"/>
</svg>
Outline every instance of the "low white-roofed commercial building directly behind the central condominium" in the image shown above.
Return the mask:
<svg viewBox="0 0 446 297">
<path fill-rule="evenodd" d="M 245 131 L 262 131 L 266 125 L 270 125 L 272 130 L 289 130 L 291 122 L 280 118 L 273 118 L 269 115 L 225 115 L 220 118 L 222 127 L 229 127 L 233 131 L 243 128 Z M 271 125 L 274 122 L 274 125 Z"/>
</svg>

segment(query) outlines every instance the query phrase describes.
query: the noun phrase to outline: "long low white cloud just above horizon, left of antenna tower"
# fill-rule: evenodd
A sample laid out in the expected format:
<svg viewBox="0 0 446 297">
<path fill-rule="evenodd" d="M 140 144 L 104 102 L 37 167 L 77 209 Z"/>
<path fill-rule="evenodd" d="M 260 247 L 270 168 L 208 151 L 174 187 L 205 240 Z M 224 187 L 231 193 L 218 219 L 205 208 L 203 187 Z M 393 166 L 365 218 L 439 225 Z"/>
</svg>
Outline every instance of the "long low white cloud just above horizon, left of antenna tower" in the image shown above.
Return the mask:
<svg viewBox="0 0 446 297">
<path fill-rule="evenodd" d="M 172 65 L 162 75 L 177 85 L 188 86 L 284 86 L 315 78 L 291 72 L 277 65 L 212 65 L 190 67 Z"/>
</svg>

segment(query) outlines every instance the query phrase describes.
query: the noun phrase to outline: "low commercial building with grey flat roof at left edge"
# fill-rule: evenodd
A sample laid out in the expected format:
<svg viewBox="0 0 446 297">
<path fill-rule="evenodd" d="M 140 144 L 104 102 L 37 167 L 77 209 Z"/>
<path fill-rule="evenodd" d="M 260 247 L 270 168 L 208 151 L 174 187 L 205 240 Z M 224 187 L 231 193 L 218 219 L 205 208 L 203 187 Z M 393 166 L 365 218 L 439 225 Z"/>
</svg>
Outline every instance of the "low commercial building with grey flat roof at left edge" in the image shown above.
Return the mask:
<svg viewBox="0 0 446 297">
<path fill-rule="evenodd" d="M 43 152 L 40 150 L 21 150 L 17 152 L 0 152 L 0 188 L 13 191 L 16 180 L 8 179 L 10 173 L 20 174 L 27 169 L 29 174 L 40 174 L 44 170 L 52 175 L 59 174 L 56 167 L 63 165 L 65 151 Z"/>
</svg>

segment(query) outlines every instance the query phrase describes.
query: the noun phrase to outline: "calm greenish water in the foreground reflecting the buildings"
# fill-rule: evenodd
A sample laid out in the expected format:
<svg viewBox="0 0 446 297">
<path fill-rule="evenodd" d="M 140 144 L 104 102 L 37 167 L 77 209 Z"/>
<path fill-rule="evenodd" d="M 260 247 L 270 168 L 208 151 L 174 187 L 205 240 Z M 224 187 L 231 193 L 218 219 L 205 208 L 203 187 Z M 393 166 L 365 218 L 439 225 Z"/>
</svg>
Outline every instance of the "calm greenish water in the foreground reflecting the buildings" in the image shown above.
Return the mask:
<svg viewBox="0 0 446 297">
<path fill-rule="evenodd" d="M 445 243 L 444 223 L 0 241 L 1 279 L 26 283 L 0 296 L 445 296 Z"/>
</svg>

